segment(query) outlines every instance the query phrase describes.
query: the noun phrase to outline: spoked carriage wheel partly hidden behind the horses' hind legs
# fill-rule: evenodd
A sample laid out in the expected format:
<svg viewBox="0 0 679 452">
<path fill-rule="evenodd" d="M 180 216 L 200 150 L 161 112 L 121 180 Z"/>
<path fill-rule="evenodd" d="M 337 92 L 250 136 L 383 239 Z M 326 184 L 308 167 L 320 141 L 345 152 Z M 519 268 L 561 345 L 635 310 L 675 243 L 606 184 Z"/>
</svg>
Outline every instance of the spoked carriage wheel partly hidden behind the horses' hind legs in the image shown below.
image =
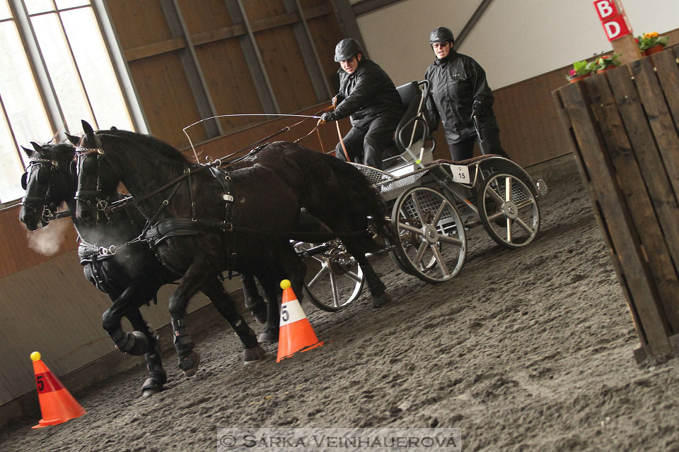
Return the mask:
<svg viewBox="0 0 679 452">
<path fill-rule="evenodd" d="M 296 251 L 306 251 L 313 245 L 296 244 Z M 318 309 L 337 312 L 349 306 L 361 295 L 365 278 L 342 242 L 304 261 L 307 266 L 304 296 Z"/>
</svg>

